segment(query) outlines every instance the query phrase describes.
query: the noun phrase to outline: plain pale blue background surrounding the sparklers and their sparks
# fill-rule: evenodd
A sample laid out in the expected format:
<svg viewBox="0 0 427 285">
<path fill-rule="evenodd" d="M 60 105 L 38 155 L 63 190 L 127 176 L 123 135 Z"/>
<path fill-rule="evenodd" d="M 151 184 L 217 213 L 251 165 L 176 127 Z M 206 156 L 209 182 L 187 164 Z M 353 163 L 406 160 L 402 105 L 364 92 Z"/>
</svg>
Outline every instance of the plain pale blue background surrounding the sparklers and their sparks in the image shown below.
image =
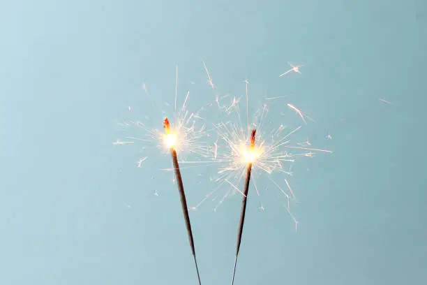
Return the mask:
<svg viewBox="0 0 427 285">
<path fill-rule="evenodd" d="M 426 8 L 3 0 L 0 284 L 196 284 L 177 190 L 159 170 L 169 156 L 150 150 L 137 168 L 141 145 L 112 142 L 128 105 L 161 128 L 142 83 L 172 103 L 176 65 L 181 95 L 196 82 L 192 107 L 213 101 L 201 58 L 223 92 L 251 82 L 250 110 L 265 92 L 292 94 L 270 119 L 301 124 L 294 103 L 316 121 L 304 126 L 313 145 L 334 150 L 289 178 L 298 233 L 277 196 L 265 212 L 250 196 L 235 284 L 424 284 Z M 287 61 L 302 74 L 279 79 Z M 213 187 L 215 171 L 200 171 L 183 170 L 190 205 Z M 240 198 L 213 206 L 190 212 L 202 284 L 229 284 Z"/>
</svg>

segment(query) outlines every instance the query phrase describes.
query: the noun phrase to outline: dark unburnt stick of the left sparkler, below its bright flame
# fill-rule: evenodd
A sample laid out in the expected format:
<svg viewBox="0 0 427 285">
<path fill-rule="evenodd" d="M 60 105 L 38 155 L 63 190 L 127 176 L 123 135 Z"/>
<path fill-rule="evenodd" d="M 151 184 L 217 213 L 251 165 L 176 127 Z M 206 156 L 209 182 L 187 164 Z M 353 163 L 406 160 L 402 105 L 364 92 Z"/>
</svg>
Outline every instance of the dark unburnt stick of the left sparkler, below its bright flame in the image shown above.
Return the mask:
<svg viewBox="0 0 427 285">
<path fill-rule="evenodd" d="M 197 261 L 196 261 L 196 257 L 195 257 L 193 232 L 191 231 L 190 216 L 188 215 L 186 193 L 184 192 L 184 189 L 183 189 L 183 183 L 182 183 L 181 171 L 179 170 L 177 152 L 175 151 L 174 148 L 171 148 L 170 153 L 172 154 L 172 161 L 174 163 L 174 173 L 175 173 L 175 177 L 177 178 L 179 196 L 181 196 L 182 212 L 184 215 L 184 219 L 186 221 L 186 228 L 187 228 L 187 233 L 188 233 L 188 240 L 190 241 L 191 253 L 193 254 L 193 257 L 194 257 L 194 263 L 195 263 L 196 270 L 197 270 L 197 278 L 199 279 L 199 284 L 201 285 L 202 282 L 200 281 L 199 268 L 197 267 Z"/>
</svg>

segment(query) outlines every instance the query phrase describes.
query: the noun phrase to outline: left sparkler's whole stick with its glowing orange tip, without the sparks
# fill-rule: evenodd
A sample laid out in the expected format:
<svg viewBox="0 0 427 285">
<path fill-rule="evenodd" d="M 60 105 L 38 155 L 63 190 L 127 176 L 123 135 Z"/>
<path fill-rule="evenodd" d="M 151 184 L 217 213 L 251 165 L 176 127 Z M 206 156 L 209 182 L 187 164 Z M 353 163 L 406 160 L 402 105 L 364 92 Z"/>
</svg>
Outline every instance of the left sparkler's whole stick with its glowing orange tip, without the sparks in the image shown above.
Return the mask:
<svg viewBox="0 0 427 285">
<path fill-rule="evenodd" d="M 188 216 L 186 193 L 184 192 L 184 189 L 183 189 L 181 171 L 179 170 L 179 163 L 177 158 L 177 151 L 174 148 L 174 144 L 175 144 L 175 141 L 177 140 L 177 136 L 176 134 L 170 131 L 170 124 L 167 118 L 165 118 L 163 122 L 163 128 L 165 129 L 165 133 L 166 133 L 165 142 L 167 147 L 170 148 L 170 154 L 172 155 L 172 161 L 174 163 L 174 173 L 175 173 L 175 177 L 177 178 L 179 196 L 181 196 L 182 212 L 184 215 L 184 219 L 186 220 L 188 240 L 190 241 L 191 253 L 193 254 L 194 263 L 197 270 L 197 279 L 199 279 L 199 285 L 201 285 L 202 282 L 200 282 L 199 268 L 197 267 L 197 260 L 195 257 L 195 247 L 194 247 L 193 233 L 191 231 L 190 217 Z"/>
</svg>

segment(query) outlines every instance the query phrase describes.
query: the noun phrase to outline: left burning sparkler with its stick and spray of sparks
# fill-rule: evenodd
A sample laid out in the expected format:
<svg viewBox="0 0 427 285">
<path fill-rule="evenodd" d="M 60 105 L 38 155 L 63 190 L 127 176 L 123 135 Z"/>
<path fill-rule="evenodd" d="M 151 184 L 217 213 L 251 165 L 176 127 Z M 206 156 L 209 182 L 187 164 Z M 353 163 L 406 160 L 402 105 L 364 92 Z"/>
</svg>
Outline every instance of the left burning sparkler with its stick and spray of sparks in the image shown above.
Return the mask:
<svg viewBox="0 0 427 285">
<path fill-rule="evenodd" d="M 177 106 L 179 98 L 178 98 L 178 67 L 176 68 L 176 84 L 174 88 L 174 101 L 171 104 L 165 103 L 164 106 L 172 106 L 174 108 L 174 123 L 170 124 L 169 120 L 167 118 L 163 121 L 163 129 L 151 129 L 147 122 L 141 122 L 141 121 L 129 121 L 129 122 L 123 122 L 119 125 L 121 127 L 130 127 L 130 126 L 138 126 L 140 129 L 142 129 L 142 134 L 139 136 L 133 135 L 133 136 L 127 136 L 126 141 L 117 140 L 117 142 L 114 142 L 114 145 L 127 145 L 127 144 L 133 144 L 134 142 L 142 142 L 144 144 L 144 152 L 149 151 L 152 147 L 158 147 L 162 149 L 163 151 L 167 149 L 167 152 L 170 152 L 170 155 L 172 156 L 172 163 L 173 168 L 167 168 L 164 170 L 173 171 L 175 181 L 177 182 L 177 188 L 179 191 L 179 196 L 181 198 L 181 206 L 182 206 L 182 212 L 183 217 L 186 222 L 186 229 L 188 233 L 188 240 L 190 242 L 190 248 L 191 252 L 193 254 L 194 262 L 195 262 L 195 268 L 197 270 L 197 279 L 199 284 L 201 284 L 200 281 L 200 274 L 199 269 L 197 266 L 197 259 L 195 255 L 195 245 L 193 240 L 193 233 L 191 230 L 190 225 L 190 217 L 188 215 L 188 207 L 187 207 L 187 201 L 186 201 L 186 195 L 183 189 L 183 182 L 181 177 L 181 170 L 179 167 L 179 163 L 203 163 L 203 161 L 195 160 L 195 161 L 186 161 L 185 156 L 186 154 L 197 154 L 197 156 L 202 156 L 206 158 L 209 156 L 209 147 L 204 142 L 203 138 L 207 137 L 207 131 L 204 129 L 204 124 L 200 126 L 197 123 L 197 120 L 202 120 L 203 118 L 200 117 L 200 111 L 203 110 L 201 108 L 197 112 L 190 112 L 187 108 L 188 98 L 190 96 L 190 92 L 186 92 L 186 96 L 183 100 L 183 104 L 181 107 Z M 149 98 L 151 103 L 153 103 L 152 99 L 154 97 L 149 95 L 149 92 L 147 91 L 147 85 L 143 85 L 143 90 L 145 94 L 147 95 L 146 98 Z M 165 112 L 163 110 L 158 110 L 157 108 L 159 105 L 152 104 L 153 109 L 156 110 L 156 113 Z M 132 108 L 132 110 L 135 110 L 135 108 Z M 168 110 L 171 111 L 171 110 Z M 149 120 L 149 117 L 146 116 L 145 119 L 147 121 Z M 178 162 L 178 154 L 179 154 L 179 162 Z M 209 156 L 210 157 L 210 156 Z M 138 161 L 137 166 L 142 167 L 142 163 L 149 159 L 149 156 L 144 156 L 140 161 Z M 158 196 L 158 192 L 155 190 L 153 193 L 154 196 Z"/>
</svg>

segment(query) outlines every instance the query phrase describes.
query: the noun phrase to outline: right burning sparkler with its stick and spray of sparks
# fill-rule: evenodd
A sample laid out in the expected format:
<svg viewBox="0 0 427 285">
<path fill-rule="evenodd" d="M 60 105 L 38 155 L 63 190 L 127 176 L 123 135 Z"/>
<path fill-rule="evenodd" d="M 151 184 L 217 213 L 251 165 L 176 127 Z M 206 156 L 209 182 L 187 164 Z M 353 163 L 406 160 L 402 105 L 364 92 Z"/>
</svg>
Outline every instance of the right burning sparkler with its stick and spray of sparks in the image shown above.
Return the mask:
<svg viewBox="0 0 427 285">
<path fill-rule="evenodd" d="M 234 277 L 237 268 L 237 258 L 239 256 L 239 249 L 241 245 L 241 237 L 246 214 L 246 203 L 248 199 L 248 189 L 251 180 L 253 181 L 253 187 L 255 188 L 257 195 L 260 196 L 254 174 L 267 174 L 267 177 L 274 184 L 274 186 L 280 190 L 280 193 L 283 193 L 285 199 L 287 200 L 287 212 L 290 214 L 290 217 L 292 217 L 295 228 L 297 230 L 298 221 L 295 219 L 290 210 L 290 201 L 294 201 L 296 199 L 294 191 L 286 179 L 283 180 L 282 186 L 271 177 L 271 174 L 284 173 L 290 175 L 291 171 L 287 171 L 287 168 L 284 169 L 283 164 L 294 162 L 298 156 L 312 157 L 315 152 L 331 152 L 326 149 L 317 149 L 315 147 L 311 147 L 311 143 L 308 142 L 308 140 L 306 143 L 291 145 L 289 139 L 290 136 L 292 136 L 294 133 L 297 133 L 297 131 L 301 129 L 301 126 L 298 126 L 297 128 L 292 129 L 287 133 L 284 133 L 285 129 L 287 128 L 283 125 L 280 125 L 278 129 L 274 129 L 271 132 L 266 132 L 264 130 L 264 123 L 266 121 L 265 118 L 267 117 L 268 108 L 265 104 L 262 110 L 255 113 L 255 118 L 257 118 L 255 119 L 255 122 L 257 123 L 251 124 L 251 126 L 253 126 L 253 131 L 250 135 L 250 138 L 248 139 L 246 136 L 246 128 L 241 126 L 241 117 L 243 116 L 240 115 L 238 103 L 238 99 L 236 100 L 234 98 L 232 105 L 226 109 L 236 111 L 236 121 L 215 125 L 218 136 L 222 139 L 222 142 L 225 142 L 225 147 L 223 147 L 223 145 L 218 147 L 218 143 L 215 143 L 216 161 L 218 163 L 225 164 L 218 170 L 219 177 L 215 181 L 219 182 L 220 185 L 217 189 L 219 189 L 219 187 L 223 184 L 229 184 L 232 186 L 231 191 L 234 191 L 234 193 L 240 193 L 242 195 L 241 217 L 237 235 L 237 247 L 232 273 L 232 284 L 234 284 Z M 255 129 L 257 130 L 256 132 Z M 257 141 L 256 147 L 255 135 Z M 246 146 L 248 142 L 250 147 Z M 244 180 L 244 189 L 241 191 L 239 190 L 238 184 L 240 180 L 245 177 L 245 175 L 246 179 Z M 213 190 L 213 192 L 217 189 Z M 231 191 L 227 191 L 227 193 L 225 193 L 223 198 L 220 199 L 218 205 L 223 203 Z M 209 196 L 211 196 L 213 192 L 209 193 Z M 206 200 L 209 196 L 204 198 L 201 203 L 203 203 L 203 201 Z M 201 203 L 199 203 L 196 207 L 198 207 Z M 218 207 L 218 205 L 216 207 Z M 216 207 L 214 210 L 216 210 Z M 262 207 L 262 209 L 264 209 L 264 207 Z"/>
</svg>

